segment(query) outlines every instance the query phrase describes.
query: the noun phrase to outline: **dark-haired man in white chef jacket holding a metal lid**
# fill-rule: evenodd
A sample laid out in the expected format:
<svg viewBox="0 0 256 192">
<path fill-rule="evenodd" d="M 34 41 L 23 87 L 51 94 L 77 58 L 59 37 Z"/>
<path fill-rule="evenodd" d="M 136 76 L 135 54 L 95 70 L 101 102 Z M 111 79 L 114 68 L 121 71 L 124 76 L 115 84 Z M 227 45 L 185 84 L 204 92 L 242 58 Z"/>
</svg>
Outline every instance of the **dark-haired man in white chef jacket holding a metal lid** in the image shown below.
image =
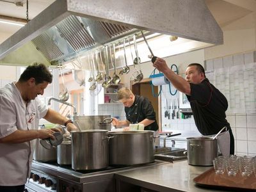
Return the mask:
<svg viewBox="0 0 256 192">
<path fill-rule="evenodd" d="M 43 95 L 52 74 L 43 64 L 34 63 L 24 70 L 19 81 L 0 89 L 0 191 L 23 192 L 30 174 L 35 139 L 52 138 L 57 129 L 38 130 L 40 118 L 77 127 L 60 113 L 47 108 L 37 95 Z"/>
</svg>

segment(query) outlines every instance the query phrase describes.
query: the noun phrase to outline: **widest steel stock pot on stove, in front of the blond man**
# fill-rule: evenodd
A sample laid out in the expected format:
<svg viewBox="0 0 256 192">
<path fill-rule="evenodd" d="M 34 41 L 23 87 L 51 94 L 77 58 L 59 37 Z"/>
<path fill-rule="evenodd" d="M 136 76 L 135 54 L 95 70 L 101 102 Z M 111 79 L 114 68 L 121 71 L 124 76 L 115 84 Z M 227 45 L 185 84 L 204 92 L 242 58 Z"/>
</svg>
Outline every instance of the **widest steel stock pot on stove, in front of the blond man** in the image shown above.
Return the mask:
<svg viewBox="0 0 256 192">
<path fill-rule="evenodd" d="M 154 161 L 154 131 L 109 131 L 109 137 L 109 164 L 135 165 Z"/>
</svg>

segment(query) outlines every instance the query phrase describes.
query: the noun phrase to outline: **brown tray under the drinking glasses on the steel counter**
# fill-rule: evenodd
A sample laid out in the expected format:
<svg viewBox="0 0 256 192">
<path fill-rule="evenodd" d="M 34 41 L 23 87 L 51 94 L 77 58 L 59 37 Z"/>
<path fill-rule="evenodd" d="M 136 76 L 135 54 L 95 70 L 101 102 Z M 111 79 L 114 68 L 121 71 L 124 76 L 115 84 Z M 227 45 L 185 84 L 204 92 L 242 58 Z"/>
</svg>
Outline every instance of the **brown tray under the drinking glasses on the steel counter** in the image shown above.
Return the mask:
<svg viewBox="0 0 256 192">
<path fill-rule="evenodd" d="M 256 191 L 256 177 L 250 175 L 243 177 L 241 173 L 236 176 L 228 176 L 227 173 L 216 174 L 214 168 L 198 175 L 193 179 L 198 185 L 211 189 L 227 189 L 232 191 Z"/>
</svg>

